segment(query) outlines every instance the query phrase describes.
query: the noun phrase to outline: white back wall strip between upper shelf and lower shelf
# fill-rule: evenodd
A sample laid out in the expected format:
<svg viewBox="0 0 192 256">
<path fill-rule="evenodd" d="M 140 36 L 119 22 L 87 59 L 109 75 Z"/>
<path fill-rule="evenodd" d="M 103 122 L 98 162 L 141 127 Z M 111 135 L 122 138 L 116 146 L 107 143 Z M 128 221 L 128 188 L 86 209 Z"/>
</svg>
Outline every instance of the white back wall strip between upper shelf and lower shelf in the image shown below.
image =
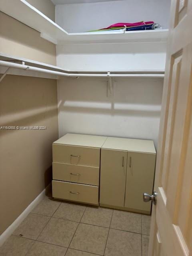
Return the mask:
<svg viewBox="0 0 192 256">
<path fill-rule="evenodd" d="M 166 42 L 57 45 L 57 65 L 71 71 L 165 69 Z"/>
</svg>

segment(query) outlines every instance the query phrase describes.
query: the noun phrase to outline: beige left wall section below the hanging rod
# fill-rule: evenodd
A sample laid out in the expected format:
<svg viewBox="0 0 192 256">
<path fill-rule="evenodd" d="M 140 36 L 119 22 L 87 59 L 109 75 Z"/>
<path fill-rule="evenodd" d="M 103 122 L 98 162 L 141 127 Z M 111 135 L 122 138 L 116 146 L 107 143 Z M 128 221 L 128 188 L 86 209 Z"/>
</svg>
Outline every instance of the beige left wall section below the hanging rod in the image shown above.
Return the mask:
<svg viewBox="0 0 192 256">
<path fill-rule="evenodd" d="M 52 142 L 58 139 L 56 80 L 7 75 L 0 83 L 0 234 L 52 179 Z"/>
</svg>

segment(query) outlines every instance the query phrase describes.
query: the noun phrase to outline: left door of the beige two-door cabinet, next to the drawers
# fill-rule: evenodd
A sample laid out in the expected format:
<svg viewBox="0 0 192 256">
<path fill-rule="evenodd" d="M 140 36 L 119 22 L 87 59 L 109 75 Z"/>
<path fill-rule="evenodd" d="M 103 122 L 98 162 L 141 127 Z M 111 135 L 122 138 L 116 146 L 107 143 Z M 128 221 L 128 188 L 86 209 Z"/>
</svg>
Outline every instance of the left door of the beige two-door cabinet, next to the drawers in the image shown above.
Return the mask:
<svg viewBox="0 0 192 256">
<path fill-rule="evenodd" d="M 100 204 L 124 207 L 127 152 L 101 149 Z"/>
</svg>

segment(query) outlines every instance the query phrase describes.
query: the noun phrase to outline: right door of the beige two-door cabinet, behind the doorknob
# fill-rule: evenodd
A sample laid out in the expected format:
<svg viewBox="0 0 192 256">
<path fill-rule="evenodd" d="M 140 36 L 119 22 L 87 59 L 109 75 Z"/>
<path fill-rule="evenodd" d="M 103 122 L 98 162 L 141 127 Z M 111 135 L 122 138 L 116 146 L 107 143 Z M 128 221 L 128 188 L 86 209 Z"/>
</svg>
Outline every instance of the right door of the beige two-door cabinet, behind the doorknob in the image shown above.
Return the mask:
<svg viewBox="0 0 192 256">
<path fill-rule="evenodd" d="M 151 211 L 151 202 L 143 202 L 143 193 L 153 193 L 156 154 L 128 152 L 125 207 Z"/>
</svg>

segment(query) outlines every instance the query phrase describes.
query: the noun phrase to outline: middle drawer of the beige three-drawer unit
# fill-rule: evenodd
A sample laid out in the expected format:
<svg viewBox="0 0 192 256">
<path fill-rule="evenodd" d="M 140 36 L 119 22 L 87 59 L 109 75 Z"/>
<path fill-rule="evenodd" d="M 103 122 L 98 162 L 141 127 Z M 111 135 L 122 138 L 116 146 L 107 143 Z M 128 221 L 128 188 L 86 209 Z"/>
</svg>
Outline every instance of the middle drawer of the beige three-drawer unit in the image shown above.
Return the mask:
<svg viewBox="0 0 192 256">
<path fill-rule="evenodd" d="M 53 162 L 53 180 L 99 186 L 99 168 Z"/>
</svg>

